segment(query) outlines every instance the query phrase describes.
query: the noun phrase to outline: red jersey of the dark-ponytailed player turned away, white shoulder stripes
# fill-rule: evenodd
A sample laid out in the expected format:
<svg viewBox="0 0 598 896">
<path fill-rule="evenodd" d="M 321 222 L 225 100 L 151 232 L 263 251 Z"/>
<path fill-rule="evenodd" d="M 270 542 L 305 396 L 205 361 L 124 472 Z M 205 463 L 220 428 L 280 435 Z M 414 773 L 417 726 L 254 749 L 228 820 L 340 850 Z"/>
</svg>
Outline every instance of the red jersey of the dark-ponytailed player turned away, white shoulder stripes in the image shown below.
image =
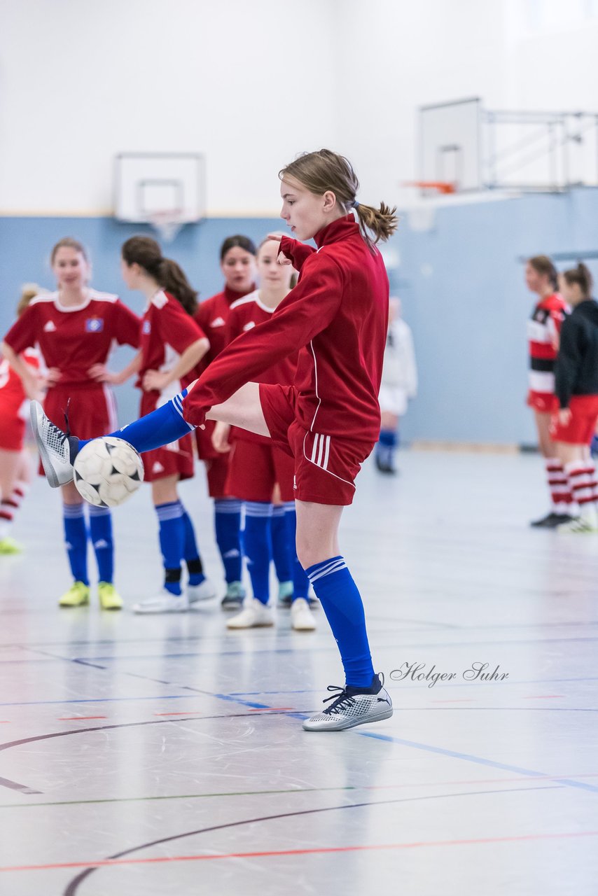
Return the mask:
<svg viewBox="0 0 598 896">
<path fill-rule="evenodd" d="M 141 386 L 143 374 L 148 370 L 171 370 L 198 339 L 204 339 L 204 332 L 180 302 L 168 292 L 157 292 L 143 313 L 139 339 L 142 362 L 136 385 Z M 182 382 L 170 383 L 169 396 L 176 395 L 194 379 L 194 372 L 189 371 Z M 162 397 L 166 397 L 166 392 Z"/>
</svg>

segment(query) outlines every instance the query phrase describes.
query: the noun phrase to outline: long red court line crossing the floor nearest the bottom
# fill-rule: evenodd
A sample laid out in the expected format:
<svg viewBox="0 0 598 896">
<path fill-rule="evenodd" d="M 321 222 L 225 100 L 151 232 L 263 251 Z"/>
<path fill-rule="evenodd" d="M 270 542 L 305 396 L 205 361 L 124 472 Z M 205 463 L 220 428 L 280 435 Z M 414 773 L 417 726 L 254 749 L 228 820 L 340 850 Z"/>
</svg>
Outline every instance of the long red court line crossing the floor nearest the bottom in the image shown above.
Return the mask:
<svg viewBox="0 0 598 896">
<path fill-rule="evenodd" d="M 368 852 L 377 849 L 420 849 L 436 846 L 480 846 L 490 843 L 520 843 L 526 840 L 563 840 L 574 837 L 598 837 L 598 831 L 565 831 L 555 834 L 522 834 L 519 837 L 488 837 L 476 840 L 420 840 L 413 843 L 376 843 L 371 846 L 332 846 L 320 849 L 269 849 L 260 852 L 229 852 L 211 856 L 159 856 L 153 858 L 104 858 L 94 862 L 56 862 L 53 865 L 14 865 L 2 871 L 51 871 L 57 868 L 101 868 L 111 865 L 157 865 L 164 862 L 202 862 L 217 858 L 263 858 L 275 856 L 312 856 L 334 852 Z"/>
</svg>

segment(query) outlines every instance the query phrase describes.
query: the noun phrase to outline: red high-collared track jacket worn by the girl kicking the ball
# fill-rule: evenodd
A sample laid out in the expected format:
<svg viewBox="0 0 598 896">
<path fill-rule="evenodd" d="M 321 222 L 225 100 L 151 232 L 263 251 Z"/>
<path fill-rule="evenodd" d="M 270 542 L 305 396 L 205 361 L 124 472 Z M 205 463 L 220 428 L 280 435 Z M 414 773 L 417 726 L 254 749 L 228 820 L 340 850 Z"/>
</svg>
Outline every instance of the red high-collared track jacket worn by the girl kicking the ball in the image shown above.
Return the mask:
<svg viewBox="0 0 598 896">
<path fill-rule="evenodd" d="M 214 404 L 299 348 L 295 413 L 299 423 L 345 439 L 377 441 L 378 392 L 386 344 L 388 278 L 382 256 L 352 215 L 316 233 L 317 250 L 282 237 L 299 269 L 295 289 L 269 321 L 242 333 L 183 401 L 199 426 Z"/>
</svg>

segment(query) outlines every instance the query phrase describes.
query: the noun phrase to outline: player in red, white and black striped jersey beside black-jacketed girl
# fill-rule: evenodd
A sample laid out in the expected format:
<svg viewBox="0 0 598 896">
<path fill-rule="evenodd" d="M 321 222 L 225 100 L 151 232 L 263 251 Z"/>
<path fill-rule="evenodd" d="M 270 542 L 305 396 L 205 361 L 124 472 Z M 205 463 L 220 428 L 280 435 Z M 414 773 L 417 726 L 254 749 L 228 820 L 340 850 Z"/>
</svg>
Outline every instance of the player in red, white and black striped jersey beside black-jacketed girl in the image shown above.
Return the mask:
<svg viewBox="0 0 598 896">
<path fill-rule="evenodd" d="M 549 513 L 532 522 L 532 526 L 542 529 L 554 529 L 573 518 L 571 489 L 550 436 L 550 417 L 559 404 L 554 394 L 554 363 L 559 350 L 560 327 L 568 311 L 565 299 L 557 291 L 557 276 L 547 255 L 534 255 L 525 266 L 527 288 L 539 297 L 527 324 L 530 352 L 527 403 L 533 409 L 550 490 Z"/>
</svg>

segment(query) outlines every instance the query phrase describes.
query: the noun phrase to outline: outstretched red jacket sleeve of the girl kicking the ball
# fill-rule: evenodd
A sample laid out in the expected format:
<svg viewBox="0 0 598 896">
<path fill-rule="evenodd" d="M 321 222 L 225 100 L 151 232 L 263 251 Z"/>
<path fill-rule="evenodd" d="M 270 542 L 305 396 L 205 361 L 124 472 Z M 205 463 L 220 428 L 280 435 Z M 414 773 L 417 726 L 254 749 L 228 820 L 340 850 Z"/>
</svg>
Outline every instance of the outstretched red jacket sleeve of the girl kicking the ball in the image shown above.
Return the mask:
<svg viewBox="0 0 598 896">
<path fill-rule="evenodd" d="M 194 426 L 244 383 L 307 345 L 334 319 L 342 297 L 342 271 L 333 259 L 316 255 L 299 283 L 264 321 L 230 343 L 200 376 L 183 401 L 185 419 Z"/>
</svg>

